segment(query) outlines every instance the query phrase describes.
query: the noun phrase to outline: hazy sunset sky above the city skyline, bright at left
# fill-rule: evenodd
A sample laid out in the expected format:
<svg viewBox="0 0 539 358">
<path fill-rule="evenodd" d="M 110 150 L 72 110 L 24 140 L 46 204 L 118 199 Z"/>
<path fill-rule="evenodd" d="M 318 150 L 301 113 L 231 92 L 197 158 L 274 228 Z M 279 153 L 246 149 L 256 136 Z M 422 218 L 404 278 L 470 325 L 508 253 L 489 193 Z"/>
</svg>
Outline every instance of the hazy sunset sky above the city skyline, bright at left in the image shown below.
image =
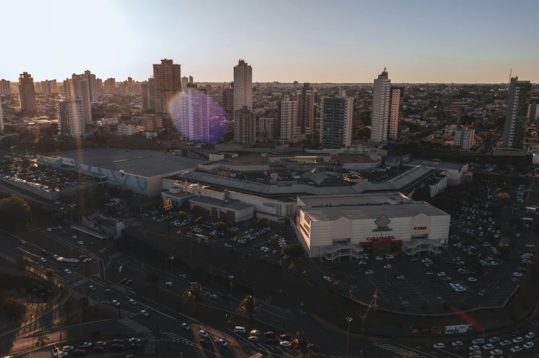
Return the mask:
<svg viewBox="0 0 539 358">
<path fill-rule="evenodd" d="M 145 80 L 172 58 L 195 82 L 539 82 L 539 0 L 7 1 L 0 78 Z"/>
</svg>

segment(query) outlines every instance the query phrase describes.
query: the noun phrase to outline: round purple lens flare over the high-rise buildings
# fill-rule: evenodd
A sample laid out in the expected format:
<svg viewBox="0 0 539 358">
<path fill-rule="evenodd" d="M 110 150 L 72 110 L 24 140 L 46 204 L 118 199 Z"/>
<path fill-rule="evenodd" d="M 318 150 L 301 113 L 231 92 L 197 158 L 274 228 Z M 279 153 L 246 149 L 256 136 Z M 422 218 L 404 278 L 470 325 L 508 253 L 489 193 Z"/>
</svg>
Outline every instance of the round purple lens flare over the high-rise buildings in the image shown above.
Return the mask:
<svg viewBox="0 0 539 358">
<path fill-rule="evenodd" d="M 177 131 L 188 141 L 215 143 L 223 137 L 228 116 L 205 89 L 185 88 L 168 104 Z"/>
</svg>

